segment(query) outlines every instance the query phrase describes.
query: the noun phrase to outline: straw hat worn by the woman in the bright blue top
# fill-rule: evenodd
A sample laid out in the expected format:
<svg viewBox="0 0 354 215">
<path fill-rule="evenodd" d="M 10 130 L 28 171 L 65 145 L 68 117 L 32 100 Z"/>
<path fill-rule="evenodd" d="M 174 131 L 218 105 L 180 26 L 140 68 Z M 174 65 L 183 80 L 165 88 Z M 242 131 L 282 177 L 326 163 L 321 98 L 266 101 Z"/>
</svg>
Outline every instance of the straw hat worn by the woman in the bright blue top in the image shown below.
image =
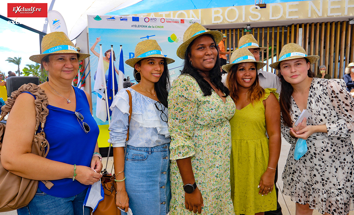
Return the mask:
<svg viewBox="0 0 354 215">
<path fill-rule="evenodd" d="M 89 54 L 79 53 L 75 49 L 75 45 L 70 41 L 64 32 L 52 32 L 45 35 L 42 39 L 42 53 L 40 55 L 32 55 L 29 60 L 41 63 L 42 59 L 50 54 L 57 53 L 75 53 L 79 54 L 79 61 L 89 57 Z"/>
</svg>

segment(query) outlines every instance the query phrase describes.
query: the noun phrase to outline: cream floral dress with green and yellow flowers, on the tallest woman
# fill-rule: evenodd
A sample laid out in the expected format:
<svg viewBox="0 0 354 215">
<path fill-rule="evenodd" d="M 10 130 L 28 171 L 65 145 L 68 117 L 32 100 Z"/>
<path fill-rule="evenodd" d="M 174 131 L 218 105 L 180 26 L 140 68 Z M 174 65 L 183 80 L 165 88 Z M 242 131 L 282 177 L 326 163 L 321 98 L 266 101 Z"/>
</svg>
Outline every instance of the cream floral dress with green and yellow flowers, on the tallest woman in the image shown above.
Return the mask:
<svg viewBox="0 0 354 215">
<path fill-rule="evenodd" d="M 203 197 L 202 214 L 234 215 L 230 197 L 231 135 L 229 119 L 235 103 L 212 91 L 204 96 L 189 75 L 173 81 L 169 93 L 170 215 L 194 214 L 185 209 L 184 190 L 176 159 L 191 157 L 194 177 Z"/>
</svg>

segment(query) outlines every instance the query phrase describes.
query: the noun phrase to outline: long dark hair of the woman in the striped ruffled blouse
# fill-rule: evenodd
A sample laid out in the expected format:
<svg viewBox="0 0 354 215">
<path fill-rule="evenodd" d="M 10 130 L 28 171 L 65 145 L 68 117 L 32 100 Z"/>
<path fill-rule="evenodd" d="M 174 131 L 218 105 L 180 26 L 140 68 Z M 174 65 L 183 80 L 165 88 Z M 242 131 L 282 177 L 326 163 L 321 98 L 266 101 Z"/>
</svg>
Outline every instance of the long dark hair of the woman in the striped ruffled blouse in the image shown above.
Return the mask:
<svg viewBox="0 0 354 215">
<path fill-rule="evenodd" d="M 141 65 L 141 61 L 138 61 L 137 64 Z M 134 68 L 134 77 L 135 80 L 139 83 L 141 81 L 141 73 L 139 73 L 135 68 Z M 138 79 L 138 80 L 137 80 Z M 164 72 L 162 73 L 160 79 L 158 82 L 155 83 L 155 92 L 156 96 L 163 104 L 165 107 L 168 108 L 167 104 L 167 96 L 169 95 L 169 92 L 167 89 L 170 89 L 170 73 L 169 73 L 169 68 L 167 68 L 167 62 L 166 60 L 164 61 Z"/>
</svg>

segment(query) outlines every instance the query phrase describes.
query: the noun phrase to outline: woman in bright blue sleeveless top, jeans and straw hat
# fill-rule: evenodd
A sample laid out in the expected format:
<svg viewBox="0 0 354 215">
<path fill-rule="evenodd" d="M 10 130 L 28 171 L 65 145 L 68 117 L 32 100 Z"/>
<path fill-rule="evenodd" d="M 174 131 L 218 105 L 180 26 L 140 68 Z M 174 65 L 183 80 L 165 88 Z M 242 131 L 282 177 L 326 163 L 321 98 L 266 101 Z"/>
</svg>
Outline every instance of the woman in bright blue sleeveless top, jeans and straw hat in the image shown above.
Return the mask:
<svg viewBox="0 0 354 215">
<path fill-rule="evenodd" d="M 90 214 L 82 205 L 87 187 L 101 177 L 99 130 L 91 114 L 89 94 L 71 85 L 79 60 L 88 56 L 78 53 L 63 32 L 53 32 L 44 36 L 42 54 L 30 57 L 48 71 L 49 81 L 39 86 L 48 97 L 44 131 L 50 150 L 46 158 L 30 153 L 36 124 L 35 97 L 23 93 L 7 119 L 1 162 L 13 174 L 48 180 L 54 186 L 48 189 L 39 182 L 32 201 L 17 210 L 19 215 Z"/>
</svg>

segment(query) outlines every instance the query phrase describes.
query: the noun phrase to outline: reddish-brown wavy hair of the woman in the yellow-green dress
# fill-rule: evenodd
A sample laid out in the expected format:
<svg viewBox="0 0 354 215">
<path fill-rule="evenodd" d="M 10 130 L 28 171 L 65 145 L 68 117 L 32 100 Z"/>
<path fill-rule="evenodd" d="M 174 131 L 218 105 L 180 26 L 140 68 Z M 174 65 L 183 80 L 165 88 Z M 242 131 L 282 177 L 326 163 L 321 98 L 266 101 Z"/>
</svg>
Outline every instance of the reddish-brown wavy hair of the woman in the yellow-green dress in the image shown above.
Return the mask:
<svg viewBox="0 0 354 215">
<path fill-rule="evenodd" d="M 230 97 L 234 102 L 239 99 L 239 92 L 238 92 L 238 87 L 237 87 L 237 81 L 236 81 L 236 74 L 237 70 L 239 68 L 239 63 L 235 64 L 234 66 L 231 67 L 229 74 L 227 75 L 226 78 L 226 85 L 229 87 L 230 90 Z M 257 68 L 257 64 L 255 63 L 255 67 Z M 256 72 L 257 73 L 257 72 Z M 249 91 L 247 92 L 247 100 L 249 100 L 252 104 L 254 104 L 255 101 L 261 100 L 265 94 L 264 89 L 259 85 L 259 78 L 258 74 L 256 74 L 256 79 L 255 82 L 253 82 L 252 86 L 250 87 Z"/>
</svg>

